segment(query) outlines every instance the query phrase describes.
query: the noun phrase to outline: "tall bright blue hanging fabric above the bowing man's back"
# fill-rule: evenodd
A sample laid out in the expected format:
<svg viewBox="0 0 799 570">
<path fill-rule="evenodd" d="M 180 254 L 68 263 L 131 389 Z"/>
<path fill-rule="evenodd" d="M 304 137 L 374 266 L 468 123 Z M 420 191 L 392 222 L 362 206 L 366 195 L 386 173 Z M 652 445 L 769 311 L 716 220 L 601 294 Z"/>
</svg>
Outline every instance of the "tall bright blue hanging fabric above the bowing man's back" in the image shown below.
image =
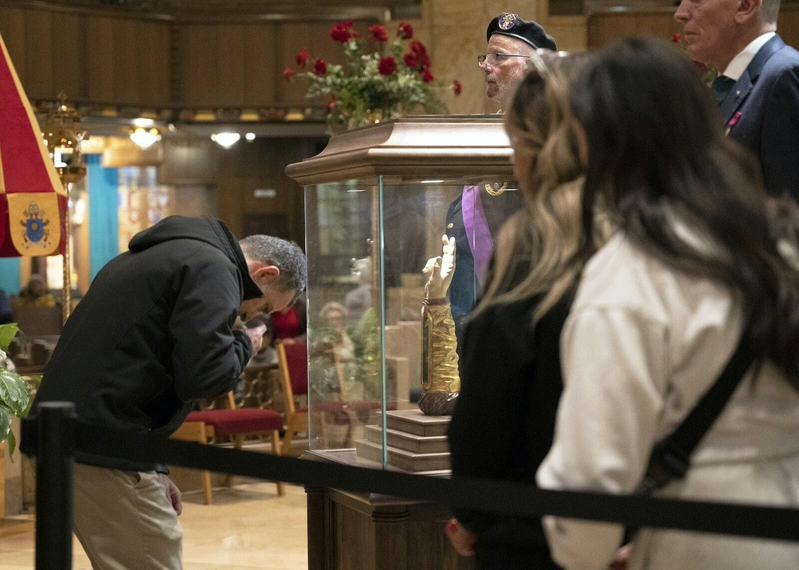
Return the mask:
<svg viewBox="0 0 799 570">
<path fill-rule="evenodd" d="M 89 279 L 119 253 L 117 168 L 103 168 L 101 155 L 87 156 L 89 168 Z"/>
</svg>

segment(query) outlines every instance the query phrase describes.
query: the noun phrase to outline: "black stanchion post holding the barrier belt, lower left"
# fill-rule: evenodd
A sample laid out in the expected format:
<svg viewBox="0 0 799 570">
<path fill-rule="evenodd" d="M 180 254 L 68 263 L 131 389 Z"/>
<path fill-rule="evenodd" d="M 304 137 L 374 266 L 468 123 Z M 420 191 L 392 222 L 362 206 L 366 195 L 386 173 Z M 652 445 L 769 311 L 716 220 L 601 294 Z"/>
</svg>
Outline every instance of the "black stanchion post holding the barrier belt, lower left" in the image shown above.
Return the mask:
<svg viewBox="0 0 799 570">
<path fill-rule="evenodd" d="M 36 570 L 70 570 L 75 406 L 42 402 L 37 411 Z"/>
</svg>

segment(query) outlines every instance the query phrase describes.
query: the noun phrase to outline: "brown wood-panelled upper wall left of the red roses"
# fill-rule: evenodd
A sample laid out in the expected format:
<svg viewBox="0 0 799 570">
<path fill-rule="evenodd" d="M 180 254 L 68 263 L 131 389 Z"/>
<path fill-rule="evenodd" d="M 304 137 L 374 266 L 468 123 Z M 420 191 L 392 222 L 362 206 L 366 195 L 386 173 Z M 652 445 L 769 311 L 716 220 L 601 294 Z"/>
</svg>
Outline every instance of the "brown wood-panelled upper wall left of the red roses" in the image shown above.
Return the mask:
<svg viewBox="0 0 799 570">
<path fill-rule="evenodd" d="M 358 22 L 365 31 L 374 22 Z M 338 62 L 331 22 L 174 23 L 0 6 L 0 34 L 28 97 L 163 107 L 302 105 L 283 79 L 307 47 Z M 324 101 L 326 102 L 326 101 Z"/>
</svg>

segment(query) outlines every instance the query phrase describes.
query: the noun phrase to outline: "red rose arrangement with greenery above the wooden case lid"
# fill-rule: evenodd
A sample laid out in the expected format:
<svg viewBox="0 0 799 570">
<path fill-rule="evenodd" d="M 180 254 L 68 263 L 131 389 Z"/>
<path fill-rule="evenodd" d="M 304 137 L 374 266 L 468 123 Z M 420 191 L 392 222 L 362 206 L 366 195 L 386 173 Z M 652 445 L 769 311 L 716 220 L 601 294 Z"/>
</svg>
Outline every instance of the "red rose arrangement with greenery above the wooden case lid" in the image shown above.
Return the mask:
<svg viewBox="0 0 799 570">
<path fill-rule="evenodd" d="M 407 22 L 398 26 L 396 38 L 386 50 L 388 55 L 379 49 L 390 40 L 385 26 L 369 26 L 368 42 L 378 48 L 372 53 L 352 20 L 334 24 L 330 39 L 343 45 L 345 65 L 328 64 L 303 48 L 296 54 L 299 69 L 285 69 L 283 76 L 288 81 L 295 77 L 307 80 L 306 97 L 330 97 L 328 126 L 332 132 L 398 117 L 419 107 L 425 113 L 447 112 L 437 94 L 444 88 L 443 82 L 435 82 L 427 48 L 413 39 L 413 28 Z M 449 89 L 459 95 L 463 88 L 453 81 Z"/>
</svg>

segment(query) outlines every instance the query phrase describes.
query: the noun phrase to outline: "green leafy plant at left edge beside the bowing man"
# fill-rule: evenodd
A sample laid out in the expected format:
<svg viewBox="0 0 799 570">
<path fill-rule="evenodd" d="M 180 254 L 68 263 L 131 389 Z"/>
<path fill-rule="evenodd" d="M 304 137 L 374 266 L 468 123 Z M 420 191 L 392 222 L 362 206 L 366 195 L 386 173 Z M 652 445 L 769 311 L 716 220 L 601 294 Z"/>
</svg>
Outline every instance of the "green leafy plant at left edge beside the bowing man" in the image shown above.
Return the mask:
<svg viewBox="0 0 799 570">
<path fill-rule="evenodd" d="M 30 390 L 41 376 L 23 376 L 14 369 L 6 350 L 19 333 L 17 323 L 0 325 L 0 443 L 8 441 L 9 457 L 13 457 L 17 440 L 11 431 L 11 418 L 25 418 L 30 410 Z M 13 461 L 13 459 L 12 459 Z"/>
</svg>

